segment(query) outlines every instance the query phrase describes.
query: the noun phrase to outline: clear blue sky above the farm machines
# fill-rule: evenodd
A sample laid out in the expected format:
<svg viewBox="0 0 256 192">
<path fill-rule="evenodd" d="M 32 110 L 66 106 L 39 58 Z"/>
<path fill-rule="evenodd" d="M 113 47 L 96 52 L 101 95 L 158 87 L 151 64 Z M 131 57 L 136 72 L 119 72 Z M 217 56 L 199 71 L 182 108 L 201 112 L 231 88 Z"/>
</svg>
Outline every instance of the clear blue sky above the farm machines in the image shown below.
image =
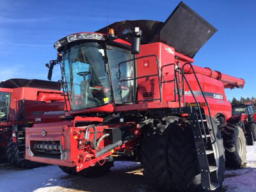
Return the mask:
<svg viewBox="0 0 256 192">
<path fill-rule="evenodd" d="M 164 21 L 179 2 L 0 0 L 0 81 L 47 79 L 45 63 L 56 58 L 52 45 L 60 38 L 120 20 Z M 196 54 L 195 64 L 245 79 L 243 89 L 226 90 L 228 99 L 256 96 L 256 1 L 184 3 L 218 29 Z M 59 68 L 52 79 L 60 79 Z"/>
</svg>

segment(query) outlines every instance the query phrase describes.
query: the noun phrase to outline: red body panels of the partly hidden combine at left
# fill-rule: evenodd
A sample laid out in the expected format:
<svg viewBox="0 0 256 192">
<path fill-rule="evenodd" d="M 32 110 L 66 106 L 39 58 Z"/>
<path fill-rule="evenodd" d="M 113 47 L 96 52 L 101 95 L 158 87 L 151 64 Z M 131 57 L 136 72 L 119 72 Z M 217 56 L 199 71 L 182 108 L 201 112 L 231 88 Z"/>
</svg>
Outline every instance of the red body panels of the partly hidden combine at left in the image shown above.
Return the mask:
<svg viewBox="0 0 256 192">
<path fill-rule="evenodd" d="M 10 130 L 13 125 L 19 128 L 25 125 L 60 122 L 61 115 L 65 113 L 63 92 L 59 90 L 19 87 L 0 88 L 0 92 L 11 93 L 8 121 L 0 122 L 0 139 L 4 140 L 0 147 L 5 147 L 12 136 Z"/>
</svg>

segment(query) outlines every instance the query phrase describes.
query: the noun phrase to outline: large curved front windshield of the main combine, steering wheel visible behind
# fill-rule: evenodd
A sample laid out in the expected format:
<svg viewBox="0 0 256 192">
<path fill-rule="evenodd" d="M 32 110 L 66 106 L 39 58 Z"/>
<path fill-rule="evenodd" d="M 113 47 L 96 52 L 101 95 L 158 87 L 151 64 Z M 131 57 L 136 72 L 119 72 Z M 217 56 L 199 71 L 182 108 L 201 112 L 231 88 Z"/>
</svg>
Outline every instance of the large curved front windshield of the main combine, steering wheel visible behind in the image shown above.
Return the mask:
<svg viewBox="0 0 256 192">
<path fill-rule="evenodd" d="M 95 108 L 111 101 L 104 49 L 97 44 L 71 47 L 63 65 L 70 104 L 74 111 Z"/>
</svg>

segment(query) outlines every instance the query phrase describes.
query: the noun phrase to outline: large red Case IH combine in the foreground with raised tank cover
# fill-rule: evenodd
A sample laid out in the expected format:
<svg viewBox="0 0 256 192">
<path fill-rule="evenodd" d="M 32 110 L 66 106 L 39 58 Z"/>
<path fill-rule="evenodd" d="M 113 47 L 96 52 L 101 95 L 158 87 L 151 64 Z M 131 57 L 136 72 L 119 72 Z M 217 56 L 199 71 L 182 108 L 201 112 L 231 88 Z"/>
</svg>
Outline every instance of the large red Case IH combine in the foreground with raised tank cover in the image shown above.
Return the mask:
<svg viewBox="0 0 256 192">
<path fill-rule="evenodd" d="M 26 159 L 86 177 L 103 175 L 113 161 L 140 161 L 159 191 L 219 191 L 223 143 L 227 165 L 241 166 L 236 157 L 245 154 L 235 140 L 241 128 L 227 123 L 224 89 L 244 80 L 191 65 L 215 32 L 180 3 L 164 23 L 125 20 L 61 38 L 49 74 L 61 64 L 71 109 L 63 122 L 26 129 Z"/>
</svg>

